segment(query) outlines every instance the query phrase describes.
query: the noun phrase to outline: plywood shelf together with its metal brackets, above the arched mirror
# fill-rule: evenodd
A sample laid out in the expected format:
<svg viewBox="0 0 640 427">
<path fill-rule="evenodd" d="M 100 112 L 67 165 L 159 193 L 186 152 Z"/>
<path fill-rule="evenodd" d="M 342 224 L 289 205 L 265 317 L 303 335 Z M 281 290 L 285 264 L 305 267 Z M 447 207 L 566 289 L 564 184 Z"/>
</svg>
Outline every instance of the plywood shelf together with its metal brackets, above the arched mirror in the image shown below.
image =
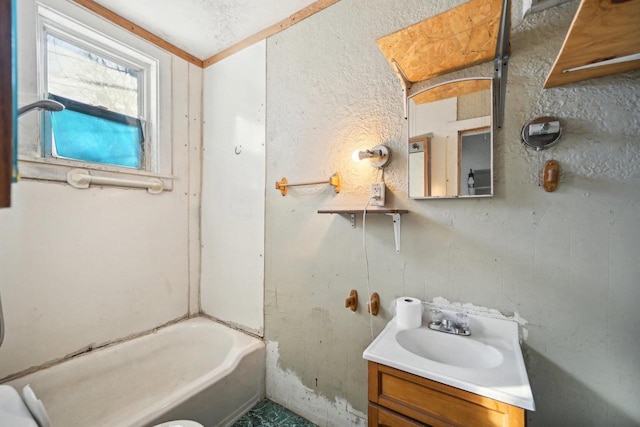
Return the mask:
<svg viewBox="0 0 640 427">
<path fill-rule="evenodd" d="M 494 127 L 507 91 L 511 0 L 471 0 L 376 41 L 408 96 L 411 85 L 493 58 Z M 407 116 L 405 103 L 405 117 Z"/>
</svg>

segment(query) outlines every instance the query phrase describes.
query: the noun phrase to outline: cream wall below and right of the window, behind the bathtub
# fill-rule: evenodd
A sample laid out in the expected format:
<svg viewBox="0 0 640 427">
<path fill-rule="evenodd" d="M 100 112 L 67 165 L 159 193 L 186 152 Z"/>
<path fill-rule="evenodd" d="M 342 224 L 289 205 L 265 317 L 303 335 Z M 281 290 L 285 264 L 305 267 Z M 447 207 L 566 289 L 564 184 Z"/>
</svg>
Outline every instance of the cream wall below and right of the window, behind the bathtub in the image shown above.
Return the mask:
<svg viewBox="0 0 640 427">
<path fill-rule="evenodd" d="M 94 22 L 100 31 L 113 29 Z M 18 41 L 22 105 L 37 97 L 35 68 L 22 66 L 34 61 L 35 46 Z M 190 231 L 198 227 L 202 70 L 170 62 L 171 89 L 163 102 L 171 103 L 172 116 L 161 120 L 171 122 L 173 191 L 13 185 L 13 206 L 0 210 L 6 326 L 0 378 L 188 314 L 200 268 L 198 236 Z M 190 257 L 194 240 L 198 252 Z"/>
</svg>

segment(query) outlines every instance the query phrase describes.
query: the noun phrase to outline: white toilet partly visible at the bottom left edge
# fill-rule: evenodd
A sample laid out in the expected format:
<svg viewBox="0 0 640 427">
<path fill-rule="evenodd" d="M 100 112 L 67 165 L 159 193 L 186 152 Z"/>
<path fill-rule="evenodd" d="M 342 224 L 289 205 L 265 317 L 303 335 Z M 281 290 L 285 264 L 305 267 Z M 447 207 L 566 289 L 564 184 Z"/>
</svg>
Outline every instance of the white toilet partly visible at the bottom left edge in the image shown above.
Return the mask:
<svg viewBox="0 0 640 427">
<path fill-rule="evenodd" d="M 52 427 L 42 402 L 28 385 L 22 389 L 22 397 L 11 386 L 0 385 L 0 426 Z M 189 420 L 169 421 L 154 427 L 204 427 Z"/>
</svg>

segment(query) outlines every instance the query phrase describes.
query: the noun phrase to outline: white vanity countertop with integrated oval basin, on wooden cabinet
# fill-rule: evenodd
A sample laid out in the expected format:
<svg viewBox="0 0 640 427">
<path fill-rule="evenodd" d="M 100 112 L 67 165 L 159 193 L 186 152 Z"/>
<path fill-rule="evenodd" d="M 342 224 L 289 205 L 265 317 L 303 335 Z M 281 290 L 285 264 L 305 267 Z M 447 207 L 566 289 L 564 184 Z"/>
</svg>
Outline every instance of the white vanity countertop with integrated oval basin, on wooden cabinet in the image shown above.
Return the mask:
<svg viewBox="0 0 640 427">
<path fill-rule="evenodd" d="M 445 316 L 454 312 L 441 308 Z M 422 325 L 400 329 L 392 319 L 363 353 L 366 360 L 535 410 L 518 342 L 518 325 L 469 314 L 470 336 L 434 331 Z"/>
</svg>

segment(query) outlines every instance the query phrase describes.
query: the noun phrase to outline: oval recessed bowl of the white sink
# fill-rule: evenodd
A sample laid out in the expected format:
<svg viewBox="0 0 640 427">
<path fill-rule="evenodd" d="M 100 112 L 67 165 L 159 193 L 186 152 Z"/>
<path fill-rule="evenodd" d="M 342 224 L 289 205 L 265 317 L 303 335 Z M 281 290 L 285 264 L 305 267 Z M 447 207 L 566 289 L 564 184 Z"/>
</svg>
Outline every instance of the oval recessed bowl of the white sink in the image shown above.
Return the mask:
<svg viewBox="0 0 640 427">
<path fill-rule="evenodd" d="M 400 347 L 445 365 L 470 369 L 490 369 L 504 359 L 495 347 L 428 328 L 405 329 L 396 334 Z"/>
</svg>

